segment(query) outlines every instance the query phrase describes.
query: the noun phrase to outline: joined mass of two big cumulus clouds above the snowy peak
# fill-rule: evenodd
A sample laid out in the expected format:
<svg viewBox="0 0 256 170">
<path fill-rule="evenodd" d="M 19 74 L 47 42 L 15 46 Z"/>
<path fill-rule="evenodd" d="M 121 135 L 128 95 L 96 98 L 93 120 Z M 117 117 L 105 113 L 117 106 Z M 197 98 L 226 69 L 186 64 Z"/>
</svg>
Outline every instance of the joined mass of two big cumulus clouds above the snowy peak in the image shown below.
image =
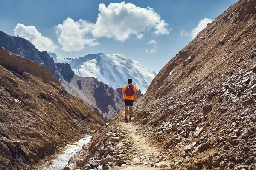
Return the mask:
<svg viewBox="0 0 256 170">
<path fill-rule="evenodd" d="M 99 4 L 96 23 L 67 18 L 58 24 L 58 42 L 65 51 L 80 51 L 84 45 L 99 45 L 95 38 L 108 37 L 124 42 L 131 35 L 141 39 L 146 32 L 153 34 L 169 34 L 171 29 L 153 8 L 141 8 L 133 3 Z M 93 39 L 86 37 L 93 36 Z"/>
</svg>

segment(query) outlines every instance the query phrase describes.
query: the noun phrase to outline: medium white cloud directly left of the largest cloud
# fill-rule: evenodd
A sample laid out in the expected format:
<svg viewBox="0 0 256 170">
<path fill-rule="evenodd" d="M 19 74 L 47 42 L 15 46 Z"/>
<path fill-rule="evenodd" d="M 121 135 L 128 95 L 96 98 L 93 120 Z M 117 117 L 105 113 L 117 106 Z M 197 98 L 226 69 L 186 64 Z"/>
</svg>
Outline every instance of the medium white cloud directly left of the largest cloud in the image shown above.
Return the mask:
<svg viewBox="0 0 256 170">
<path fill-rule="evenodd" d="M 93 27 L 93 23 L 81 19 L 75 22 L 71 18 L 67 18 L 63 24 L 56 26 L 58 42 L 63 46 L 62 49 L 67 52 L 80 51 L 84 49 L 84 45 L 99 45 L 96 39 L 89 39 L 85 36 L 91 32 Z"/>
</svg>

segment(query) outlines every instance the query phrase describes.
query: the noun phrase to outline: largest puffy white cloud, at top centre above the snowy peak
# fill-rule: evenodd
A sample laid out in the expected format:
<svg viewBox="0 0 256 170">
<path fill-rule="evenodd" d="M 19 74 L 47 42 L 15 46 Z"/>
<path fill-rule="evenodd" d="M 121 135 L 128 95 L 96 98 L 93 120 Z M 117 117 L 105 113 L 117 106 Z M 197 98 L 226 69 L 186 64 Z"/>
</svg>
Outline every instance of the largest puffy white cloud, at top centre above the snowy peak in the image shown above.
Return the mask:
<svg viewBox="0 0 256 170">
<path fill-rule="evenodd" d="M 99 14 L 92 31 L 94 37 L 115 38 L 125 41 L 131 34 L 138 35 L 148 29 L 154 33 L 169 34 L 168 24 L 161 20 L 153 8 L 140 8 L 132 3 L 99 4 Z M 140 36 L 137 36 L 140 37 Z"/>
</svg>

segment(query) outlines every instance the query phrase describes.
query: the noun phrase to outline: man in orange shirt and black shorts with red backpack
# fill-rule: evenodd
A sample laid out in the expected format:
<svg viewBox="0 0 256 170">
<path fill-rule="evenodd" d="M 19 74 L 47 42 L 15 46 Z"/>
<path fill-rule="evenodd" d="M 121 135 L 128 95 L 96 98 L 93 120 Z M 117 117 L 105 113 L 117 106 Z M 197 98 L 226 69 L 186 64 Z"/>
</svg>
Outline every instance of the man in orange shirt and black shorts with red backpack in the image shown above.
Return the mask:
<svg viewBox="0 0 256 170">
<path fill-rule="evenodd" d="M 137 102 L 137 89 L 134 85 L 132 85 L 132 79 L 128 79 L 128 85 L 125 85 L 122 89 L 122 98 L 125 101 L 125 123 L 128 123 L 128 108 L 130 111 L 129 121 L 131 121 L 133 102 L 134 100 Z"/>
</svg>

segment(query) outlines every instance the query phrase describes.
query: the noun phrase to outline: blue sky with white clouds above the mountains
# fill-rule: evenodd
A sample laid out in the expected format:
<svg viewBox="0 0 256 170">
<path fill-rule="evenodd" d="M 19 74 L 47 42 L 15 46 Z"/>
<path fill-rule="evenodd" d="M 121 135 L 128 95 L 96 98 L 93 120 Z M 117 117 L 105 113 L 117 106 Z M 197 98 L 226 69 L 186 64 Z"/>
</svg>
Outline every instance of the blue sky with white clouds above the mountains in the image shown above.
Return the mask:
<svg viewBox="0 0 256 170">
<path fill-rule="evenodd" d="M 160 71 L 237 0 L 0 0 L 0 31 L 59 58 L 114 53 Z"/>
</svg>

